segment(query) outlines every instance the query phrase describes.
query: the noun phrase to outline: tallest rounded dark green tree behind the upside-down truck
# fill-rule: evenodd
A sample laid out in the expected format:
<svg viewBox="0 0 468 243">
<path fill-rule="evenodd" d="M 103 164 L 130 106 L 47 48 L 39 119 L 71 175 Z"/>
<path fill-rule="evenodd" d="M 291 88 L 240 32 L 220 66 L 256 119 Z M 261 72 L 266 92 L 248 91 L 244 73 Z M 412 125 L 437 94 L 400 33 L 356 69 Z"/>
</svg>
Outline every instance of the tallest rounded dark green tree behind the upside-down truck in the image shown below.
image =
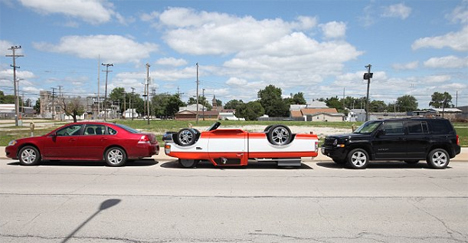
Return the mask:
<svg viewBox="0 0 468 243">
<path fill-rule="evenodd" d="M 259 102 L 268 116 L 289 116 L 289 106 L 281 97 L 281 93 L 281 89 L 273 85 L 268 85 L 265 89 L 258 91 Z"/>
</svg>

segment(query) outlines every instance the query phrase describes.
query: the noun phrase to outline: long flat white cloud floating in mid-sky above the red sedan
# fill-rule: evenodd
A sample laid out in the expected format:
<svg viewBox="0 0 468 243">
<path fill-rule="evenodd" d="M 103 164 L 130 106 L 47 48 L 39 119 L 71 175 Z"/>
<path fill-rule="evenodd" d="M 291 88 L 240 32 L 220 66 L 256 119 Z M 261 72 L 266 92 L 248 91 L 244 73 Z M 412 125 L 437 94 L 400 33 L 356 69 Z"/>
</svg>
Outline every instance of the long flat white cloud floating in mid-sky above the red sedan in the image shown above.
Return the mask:
<svg viewBox="0 0 468 243">
<path fill-rule="evenodd" d="M 142 58 L 148 58 L 151 52 L 158 50 L 153 43 L 137 43 L 133 39 L 119 35 L 65 36 L 58 44 L 33 43 L 34 48 L 80 58 L 96 59 L 98 56 L 104 62 L 139 63 Z"/>
</svg>

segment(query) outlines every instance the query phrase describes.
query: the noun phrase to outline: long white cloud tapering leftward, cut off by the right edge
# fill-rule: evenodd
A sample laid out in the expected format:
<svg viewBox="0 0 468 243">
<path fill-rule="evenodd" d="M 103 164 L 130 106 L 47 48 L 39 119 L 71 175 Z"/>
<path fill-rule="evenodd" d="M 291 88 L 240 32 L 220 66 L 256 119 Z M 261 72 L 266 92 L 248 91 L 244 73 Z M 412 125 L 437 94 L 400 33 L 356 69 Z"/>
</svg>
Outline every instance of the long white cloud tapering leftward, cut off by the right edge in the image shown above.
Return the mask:
<svg viewBox="0 0 468 243">
<path fill-rule="evenodd" d="M 432 47 L 441 49 L 444 47 L 452 48 L 456 51 L 468 51 L 468 26 L 465 26 L 459 32 L 450 32 L 446 35 L 425 37 L 416 40 L 411 47 L 413 50 Z"/>
</svg>

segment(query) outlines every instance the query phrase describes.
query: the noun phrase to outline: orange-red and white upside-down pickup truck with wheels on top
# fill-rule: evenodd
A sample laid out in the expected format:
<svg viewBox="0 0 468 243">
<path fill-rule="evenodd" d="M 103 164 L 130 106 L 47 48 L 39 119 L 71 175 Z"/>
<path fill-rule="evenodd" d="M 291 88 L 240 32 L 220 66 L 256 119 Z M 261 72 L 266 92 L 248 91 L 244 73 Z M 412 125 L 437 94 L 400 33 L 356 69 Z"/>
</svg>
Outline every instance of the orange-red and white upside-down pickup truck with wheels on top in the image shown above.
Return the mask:
<svg viewBox="0 0 468 243">
<path fill-rule="evenodd" d="M 318 155 L 318 138 L 314 134 L 292 134 L 284 125 L 271 125 L 264 132 L 242 129 L 218 129 L 216 122 L 207 131 L 184 128 L 163 136 L 164 151 L 178 158 L 185 168 L 201 160 L 215 166 L 246 166 L 249 161 L 274 161 L 278 166 L 301 166 L 302 157 Z"/>
</svg>

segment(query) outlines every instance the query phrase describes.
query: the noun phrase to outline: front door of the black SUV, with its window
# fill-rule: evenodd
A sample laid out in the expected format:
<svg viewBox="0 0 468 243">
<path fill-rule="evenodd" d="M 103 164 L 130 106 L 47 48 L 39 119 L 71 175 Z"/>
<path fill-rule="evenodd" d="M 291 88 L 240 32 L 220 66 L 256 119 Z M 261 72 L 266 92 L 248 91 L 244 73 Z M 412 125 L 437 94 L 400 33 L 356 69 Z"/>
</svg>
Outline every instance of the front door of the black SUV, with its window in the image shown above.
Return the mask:
<svg viewBox="0 0 468 243">
<path fill-rule="evenodd" d="M 401 120 L 385 121 L 377 132 L 373 148 L 376 159 L 403 159 L 406 157 L 404 122 Z"/>
</svg>

